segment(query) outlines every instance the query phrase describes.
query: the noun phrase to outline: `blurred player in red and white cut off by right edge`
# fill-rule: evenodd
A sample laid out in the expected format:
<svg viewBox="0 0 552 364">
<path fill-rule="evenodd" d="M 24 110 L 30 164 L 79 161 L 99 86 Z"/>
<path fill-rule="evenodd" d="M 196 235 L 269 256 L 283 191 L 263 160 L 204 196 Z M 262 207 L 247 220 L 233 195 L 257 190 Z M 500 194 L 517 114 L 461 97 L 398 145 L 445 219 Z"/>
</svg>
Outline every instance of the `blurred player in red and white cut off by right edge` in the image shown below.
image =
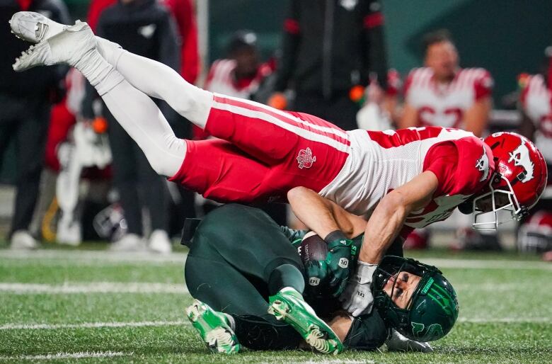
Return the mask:
<svg viewBox="0 0 552 364">
<path fill-rule="evenodd" d="M 519 76 L 522 89 L 519 108 L 522 127 L 519 132 L 541 150 L 548 171 L 552 171 L 552 46 L 545 50 L 545 62 L 540 74 Z M 543 198 L 519 227 L 517 244 L 522 251 L 544 253 L 552 261 L 552 186 L 544 191 Z"/>
</svg>

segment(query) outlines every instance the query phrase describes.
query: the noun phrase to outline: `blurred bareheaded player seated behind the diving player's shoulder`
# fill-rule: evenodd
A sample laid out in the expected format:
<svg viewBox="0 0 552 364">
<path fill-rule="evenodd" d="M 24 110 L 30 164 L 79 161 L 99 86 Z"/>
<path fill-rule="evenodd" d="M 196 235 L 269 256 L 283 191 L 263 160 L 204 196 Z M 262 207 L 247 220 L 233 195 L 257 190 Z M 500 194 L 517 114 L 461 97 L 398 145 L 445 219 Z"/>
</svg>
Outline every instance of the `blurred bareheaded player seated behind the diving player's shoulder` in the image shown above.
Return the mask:
<svg viewBox="0 0 552 364">
<path fill-rule="evenodd" d="M 413 69 L 404 87 L 405 104 L 398 128 L 435 125 L 456 127 L 482 137 L 492 108 L 493 79 L 482 68 L 461 68 L 459 55 L 446 30 L 424 38 L 425 67 Z M 457 249 L 500 249 L 496 234 L 473 232 L 467 217 L 456 215 L 460 227 Z M 425 249 L 430 232 L 420 229 L 405 246 Z"/>
</svg>

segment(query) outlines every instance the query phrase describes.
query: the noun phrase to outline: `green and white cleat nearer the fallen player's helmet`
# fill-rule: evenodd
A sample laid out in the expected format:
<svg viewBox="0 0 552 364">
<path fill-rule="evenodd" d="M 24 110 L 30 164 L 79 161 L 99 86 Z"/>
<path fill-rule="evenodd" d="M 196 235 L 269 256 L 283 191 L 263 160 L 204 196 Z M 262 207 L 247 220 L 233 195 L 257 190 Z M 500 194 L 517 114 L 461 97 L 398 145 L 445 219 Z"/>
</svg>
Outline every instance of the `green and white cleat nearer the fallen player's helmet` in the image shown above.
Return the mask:
<svg viewBox="0 0 552 364">
<path fill-rule="evenodd" d="M 314 309 L 293 288 L 284 288 L 270 296 L 268 313 L 292 326 L 316 351 L 338 354 L 343 344 L 333 330 L 316 315 Z"/>
</svg>

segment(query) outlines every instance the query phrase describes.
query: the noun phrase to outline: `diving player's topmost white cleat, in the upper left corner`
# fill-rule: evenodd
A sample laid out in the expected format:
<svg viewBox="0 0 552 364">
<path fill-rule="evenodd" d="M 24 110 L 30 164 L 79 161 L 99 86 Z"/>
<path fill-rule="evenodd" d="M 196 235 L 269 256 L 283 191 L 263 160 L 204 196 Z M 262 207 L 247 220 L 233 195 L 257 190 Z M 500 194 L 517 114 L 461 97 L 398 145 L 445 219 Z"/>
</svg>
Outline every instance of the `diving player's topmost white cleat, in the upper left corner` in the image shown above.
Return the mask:
<svg viewBox="0 0 552 364">
<path fill-rule="evenodd" d="M 10 21 L 11 33 L 17 38 L 31 43 L 42 42 L 54 35 L 62 33 L 68 25 L 52 21 L 34 11 L 18 11 Z"/>
</svg>

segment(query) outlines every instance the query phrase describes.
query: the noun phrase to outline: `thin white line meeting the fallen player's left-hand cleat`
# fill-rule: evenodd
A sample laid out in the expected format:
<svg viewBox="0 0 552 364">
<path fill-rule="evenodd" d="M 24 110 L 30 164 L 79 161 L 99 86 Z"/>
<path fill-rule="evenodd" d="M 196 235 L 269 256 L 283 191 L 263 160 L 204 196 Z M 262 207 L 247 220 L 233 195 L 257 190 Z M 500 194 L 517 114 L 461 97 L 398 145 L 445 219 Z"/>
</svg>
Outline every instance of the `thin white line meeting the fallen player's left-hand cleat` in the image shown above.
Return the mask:
<svg viewBox="0 0 552 364">
<path fill-rule="evenodd" d="M 81 324 L 3 324 L 0 330 L 101 329 L 119 327 L 189 326 L 188 321 L 82 322 Z"/>
</svg>

